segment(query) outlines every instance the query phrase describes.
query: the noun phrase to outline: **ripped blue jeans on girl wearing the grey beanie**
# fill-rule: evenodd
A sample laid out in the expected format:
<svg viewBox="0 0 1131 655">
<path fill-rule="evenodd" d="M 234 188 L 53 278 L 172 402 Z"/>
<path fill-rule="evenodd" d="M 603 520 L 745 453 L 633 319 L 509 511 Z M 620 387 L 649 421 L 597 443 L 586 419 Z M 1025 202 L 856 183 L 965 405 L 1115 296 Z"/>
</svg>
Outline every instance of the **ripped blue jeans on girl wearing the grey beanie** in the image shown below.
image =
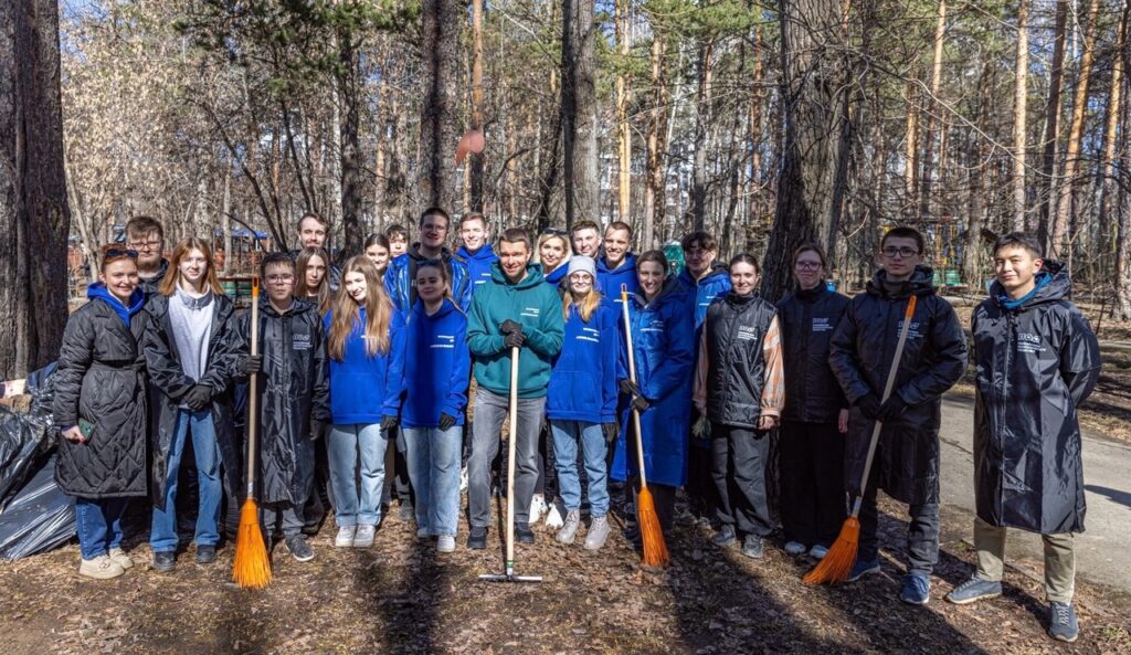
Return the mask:
<svg viewBox="0 0 1131 655">
<path fill-rule="evenodd" d="M 581 509 L 581 481 L 577 475 L 577 442 L 581 441 L 585 475 L 589 480 L 589 511 L 605 516 L 608 511 L 608 472 L 605 457 L 608 446 L 601 423 L 588 421 L 550 421 L 554 437 L 554 460 L 558 465 L 558 492 L 567 511 Z"/>
</svg>

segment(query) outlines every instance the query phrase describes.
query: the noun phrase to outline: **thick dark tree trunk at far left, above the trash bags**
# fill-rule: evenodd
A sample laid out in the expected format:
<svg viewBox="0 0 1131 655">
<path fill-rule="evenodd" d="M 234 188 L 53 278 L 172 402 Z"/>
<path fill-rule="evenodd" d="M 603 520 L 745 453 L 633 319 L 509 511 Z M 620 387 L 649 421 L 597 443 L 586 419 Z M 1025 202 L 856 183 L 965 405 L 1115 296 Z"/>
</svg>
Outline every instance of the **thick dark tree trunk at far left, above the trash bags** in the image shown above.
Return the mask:
<svg viewBox="0 0 1131 655">
<path fill-rule="evenodd" d="M 0 378 L 59 356 L 70 212 L 59 93 L 59 6 L 0 3 Z"/>
</svg>

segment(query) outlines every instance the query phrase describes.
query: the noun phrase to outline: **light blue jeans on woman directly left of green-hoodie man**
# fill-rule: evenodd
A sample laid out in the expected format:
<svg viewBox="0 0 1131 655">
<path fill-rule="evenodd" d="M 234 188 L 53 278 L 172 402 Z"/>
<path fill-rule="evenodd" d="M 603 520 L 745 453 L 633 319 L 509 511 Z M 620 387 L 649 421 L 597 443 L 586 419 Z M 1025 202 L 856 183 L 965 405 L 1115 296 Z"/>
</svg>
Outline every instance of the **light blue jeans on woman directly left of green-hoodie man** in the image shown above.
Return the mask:
<svg viewBox="0 0 1131 655">
<path fill-rule="evenodd" d="M 429 535 L 456 536 L 459 524 L 459 456 L 464 428 L 402 428 L 408 479 L 416 492 L 416 526 Z"/>
</svg>

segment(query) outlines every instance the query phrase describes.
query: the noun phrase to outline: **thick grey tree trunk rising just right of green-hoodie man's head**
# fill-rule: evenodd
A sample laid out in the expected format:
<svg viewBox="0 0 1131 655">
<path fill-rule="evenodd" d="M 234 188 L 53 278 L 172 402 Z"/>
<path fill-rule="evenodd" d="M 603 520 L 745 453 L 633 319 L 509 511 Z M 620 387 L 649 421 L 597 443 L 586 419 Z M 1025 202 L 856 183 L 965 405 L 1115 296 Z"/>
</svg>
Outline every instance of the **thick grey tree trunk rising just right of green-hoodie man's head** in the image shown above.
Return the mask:
<svg viewBox="0 0 1131 655">
<path fill-rule="evenodd" d="M 562 111 L 566 226 L 601 216 L 594 0 L 562 2 Z"/>
</svg>

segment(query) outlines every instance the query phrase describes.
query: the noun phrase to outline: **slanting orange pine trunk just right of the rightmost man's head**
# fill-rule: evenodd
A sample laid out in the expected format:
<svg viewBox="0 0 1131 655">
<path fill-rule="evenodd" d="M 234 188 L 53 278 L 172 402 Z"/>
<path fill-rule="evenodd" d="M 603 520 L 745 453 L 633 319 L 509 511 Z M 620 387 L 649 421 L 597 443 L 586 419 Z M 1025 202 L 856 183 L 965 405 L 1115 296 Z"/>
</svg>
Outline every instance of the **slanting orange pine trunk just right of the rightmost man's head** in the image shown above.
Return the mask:
<svg viewBox="0 0 1131 655">
<path fill-rule="evenodd" d="M 1069 126 L 1068 148 L 1064 150 L 1064 188 L 1055 219 L 1050 230 L 1048 255 L 1053 258 L 1067 258 L 1069 268 L 1072 262 L 1072 248 L 1069 243 L 1069 225 L 1073 222 L 1076 207 L 1076 176 L 1080 171 L 1080 150 L 1083 141 L 1083 119 L 1088 104 L 1088 81 L 1091 77 L 1091 63 L 1095 60 L 1096 21 L 1099 11 L 1099 0 L 1091 0 L 1088 6 L 1088 28 L 1083 34 L 1083 54 L 1080 55 L 1080 72 L 1076 83 L 1076 97 L 1072 101 L 1072 123 Z"/>
</svg>

